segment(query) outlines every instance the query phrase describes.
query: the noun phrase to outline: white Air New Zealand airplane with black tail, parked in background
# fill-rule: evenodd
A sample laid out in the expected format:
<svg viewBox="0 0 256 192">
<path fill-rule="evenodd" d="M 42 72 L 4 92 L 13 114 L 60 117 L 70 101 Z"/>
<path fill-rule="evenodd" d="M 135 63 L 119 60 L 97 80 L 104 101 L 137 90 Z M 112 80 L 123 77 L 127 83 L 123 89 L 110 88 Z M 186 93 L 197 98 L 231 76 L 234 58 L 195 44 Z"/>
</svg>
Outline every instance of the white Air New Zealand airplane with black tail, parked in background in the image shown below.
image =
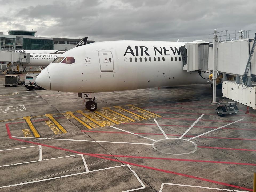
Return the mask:
<svg viewBox="0 0 256 192">
<path fill-rule="evenodd" d="M 83 38 L 75 47 L 79 47 L 86 44 L 88 37 Z M 74 48 L 75 48 L 74 47 Z M 43 52 L 47 54 L 43 54 Z M 53 53 L 53 51 L 55 51 Z M 24 50 L 24 52 L 30 53 L 29 63 L 21 63 L 23 67 L 23 72 L 26 72 L 27 66 L 47 66 L 49 63 L 53 62 L 60 54 L 65 53 L 66 51 L 59 50 Z M 32 52 L 32 53 L 31 53 Z M 39 52 L 39 53 L 35 53 Z"/>
</svg>

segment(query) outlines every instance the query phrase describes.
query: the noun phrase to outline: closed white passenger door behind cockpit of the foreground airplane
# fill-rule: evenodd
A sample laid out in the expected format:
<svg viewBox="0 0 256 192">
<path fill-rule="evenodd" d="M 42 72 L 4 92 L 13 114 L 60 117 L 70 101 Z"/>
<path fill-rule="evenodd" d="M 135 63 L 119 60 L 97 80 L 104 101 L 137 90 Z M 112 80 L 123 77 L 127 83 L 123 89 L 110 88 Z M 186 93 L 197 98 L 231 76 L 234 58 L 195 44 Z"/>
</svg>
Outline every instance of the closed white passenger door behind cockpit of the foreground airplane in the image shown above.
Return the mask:
<svg viewBox="0 0 256 192">
<path fill-rule="evenodd" d="M 101 72 L 114 71 L 114 61 L 111 51 L 98 51 Z"/>
</svg>

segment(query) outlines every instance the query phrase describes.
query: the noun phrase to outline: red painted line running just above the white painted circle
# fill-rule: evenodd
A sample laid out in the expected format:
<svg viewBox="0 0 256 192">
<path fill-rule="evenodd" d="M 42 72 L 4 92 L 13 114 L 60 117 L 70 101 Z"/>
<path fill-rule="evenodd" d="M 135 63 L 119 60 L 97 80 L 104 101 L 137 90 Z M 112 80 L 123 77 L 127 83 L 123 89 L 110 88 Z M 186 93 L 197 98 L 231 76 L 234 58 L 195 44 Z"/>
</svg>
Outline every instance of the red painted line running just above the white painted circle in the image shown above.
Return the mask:
<svg viewBox="0 0 256 192">
<path fill-rule="evenodd" d="M 90 131 L 90 130 L 82 130 L 82 132 L 93 132 L 93 133 L 121 133 L 121 134 L 129 134 L 126 132 L 114 132 L 114 131 Z M 141 135 L 163 135 L 158 133 L 135 133 Z M 173 134 L 166 134 L 170 136 L 181 136 L 181 135 L 173 135 Z M 195 137 L 195 135 L 184 135 L 185 137 Z M 207 136 L 200 136 L 200 138 L 211 138 L 211 139 L 233 139 L 233 140 L 246 140 L 246 141 L 256 141 L 256 139 L 246 139 L 246 138 L 229 138 L 229 137 L 207 137 Z"/>
</svg>

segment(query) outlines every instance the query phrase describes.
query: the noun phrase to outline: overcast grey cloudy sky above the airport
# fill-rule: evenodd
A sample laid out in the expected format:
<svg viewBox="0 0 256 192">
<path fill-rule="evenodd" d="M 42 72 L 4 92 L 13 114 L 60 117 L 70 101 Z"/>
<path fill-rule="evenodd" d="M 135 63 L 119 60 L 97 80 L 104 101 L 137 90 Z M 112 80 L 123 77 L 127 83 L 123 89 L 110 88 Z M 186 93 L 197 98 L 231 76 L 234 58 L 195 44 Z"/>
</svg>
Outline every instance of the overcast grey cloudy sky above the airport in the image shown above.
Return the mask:
<svg viewBox="0 0 256 192">
<path fill-rule="evenodd" d="M 42 37 L 208 41 L 214 29 L 256 32 L 255 0 L 0 0 L 0 32 Z"/>
</svg>

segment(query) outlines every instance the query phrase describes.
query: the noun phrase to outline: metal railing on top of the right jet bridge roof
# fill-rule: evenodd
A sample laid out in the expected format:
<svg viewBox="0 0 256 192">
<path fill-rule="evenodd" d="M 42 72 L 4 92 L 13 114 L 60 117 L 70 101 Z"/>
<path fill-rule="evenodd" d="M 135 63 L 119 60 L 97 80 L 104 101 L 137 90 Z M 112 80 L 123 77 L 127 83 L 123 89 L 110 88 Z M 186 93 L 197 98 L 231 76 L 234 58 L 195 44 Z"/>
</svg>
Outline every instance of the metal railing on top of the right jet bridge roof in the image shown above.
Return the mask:
<svg viewBox="0 0 256 192">
<path fill-rule="evenodd" d="M 251 30 L 225 30 L 217 32 L 218 41 L 231 41 L 237 39 L 247 39 L 249 38 L 249 31 Z M 212 42 L 213 34 L 209 34 L 209 42 Z"/>
</svg>

